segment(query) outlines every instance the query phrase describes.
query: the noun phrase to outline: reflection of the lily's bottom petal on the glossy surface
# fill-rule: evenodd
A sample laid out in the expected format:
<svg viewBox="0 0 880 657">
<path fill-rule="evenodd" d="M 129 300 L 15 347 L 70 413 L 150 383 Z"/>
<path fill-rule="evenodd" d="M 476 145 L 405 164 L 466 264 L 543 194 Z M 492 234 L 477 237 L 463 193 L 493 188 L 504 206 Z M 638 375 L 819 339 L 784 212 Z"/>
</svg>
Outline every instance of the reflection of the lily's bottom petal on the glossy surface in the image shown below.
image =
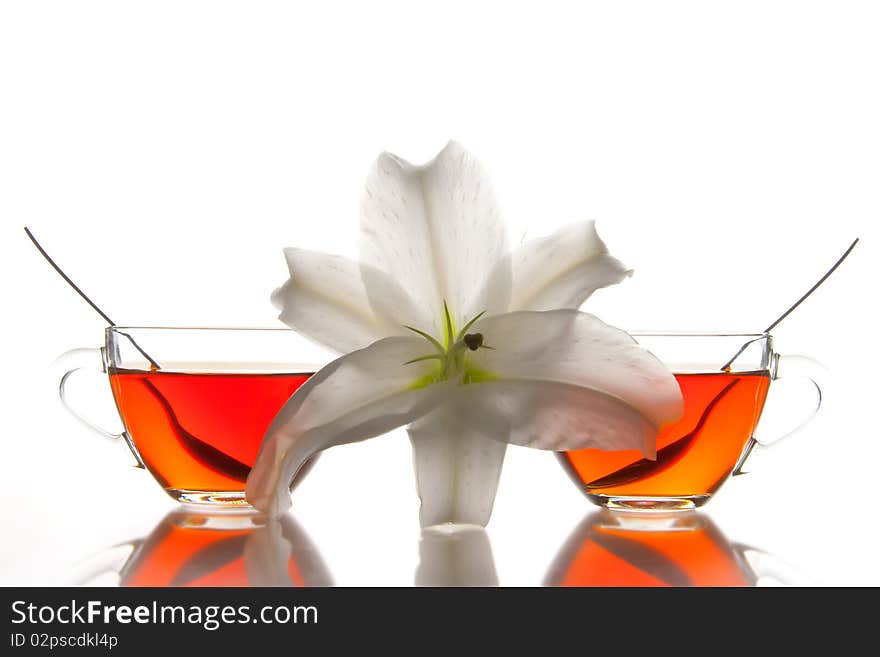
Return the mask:
<svg viewBox="0 0 880 657">
<path fill-rule="evenodd" d="M 416 586 L 498 586 L 489 535 L 482 527 L 422 530 Z"/>
</svg>

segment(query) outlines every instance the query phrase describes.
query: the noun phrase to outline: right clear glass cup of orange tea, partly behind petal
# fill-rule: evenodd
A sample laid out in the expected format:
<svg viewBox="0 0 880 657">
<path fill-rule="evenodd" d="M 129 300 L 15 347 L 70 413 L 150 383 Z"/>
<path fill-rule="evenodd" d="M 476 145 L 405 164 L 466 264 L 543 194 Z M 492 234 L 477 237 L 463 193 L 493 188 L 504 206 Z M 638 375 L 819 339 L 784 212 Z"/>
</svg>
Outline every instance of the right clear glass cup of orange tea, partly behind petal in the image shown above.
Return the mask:
<svg viewBox="0 0 880 657">
<path fill-rule="evenodd" d="M 767 334 L 633 336 L 674 373 L 684 414 L 660 428 L 657 458 L 637 450 L 584 449 L 558 457 L 587 497 L 617 509 L 690 509 L 705 504 L 752 449 L 770 382 L 808 359 L 780 356 Z M 724 368 L 724 369 L 722 369 Z M 786 371 L 786 374 L 788 372 Z M 821 391 L 815 381 L 816 403 Z M 764 437 L 761 443 L 766 443 Z"/>
</svg>

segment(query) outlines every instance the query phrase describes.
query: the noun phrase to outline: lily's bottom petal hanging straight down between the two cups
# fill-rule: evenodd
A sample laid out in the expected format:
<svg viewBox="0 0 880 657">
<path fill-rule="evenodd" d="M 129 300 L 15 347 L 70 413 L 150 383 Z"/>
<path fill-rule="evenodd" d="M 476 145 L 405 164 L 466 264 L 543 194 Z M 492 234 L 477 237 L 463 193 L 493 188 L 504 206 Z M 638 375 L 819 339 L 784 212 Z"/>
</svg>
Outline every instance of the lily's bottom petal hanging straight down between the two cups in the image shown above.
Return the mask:
<svg viewBox="0 0 880 657">
<path fill-rule="evenodd" d="M 409 437 L 422 527 L 489 522 L 507 444 L 487 440 L 459 422 L 451 404 L 413 423 Z"/>
</svg>

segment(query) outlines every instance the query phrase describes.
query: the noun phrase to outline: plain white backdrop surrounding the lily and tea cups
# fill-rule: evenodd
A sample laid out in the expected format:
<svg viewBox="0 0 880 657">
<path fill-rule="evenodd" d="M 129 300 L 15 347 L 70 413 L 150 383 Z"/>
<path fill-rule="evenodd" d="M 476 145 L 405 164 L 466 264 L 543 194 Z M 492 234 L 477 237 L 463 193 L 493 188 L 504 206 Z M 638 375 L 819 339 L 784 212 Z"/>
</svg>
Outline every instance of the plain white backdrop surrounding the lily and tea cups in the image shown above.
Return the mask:
<svg viewBox="0 0 880 657">
<path fill-rule="evenodd" d="M 776 331 L 833 376 L 797 438 L 706 509 L 818 584 L 880 584 L 876 549 L 880 11 L 865 2 L 6 2 L 0 9 L 0 584 L 67 581 L 173 503 L 54 398 L 102 322 L 276 326 L 284 246 L 352 255 L 373 158 L 455 138 L 514 241 L 597 220 L 636 271 L 585 309 L 628 329 Z M 409 444 L 334 449 L 295 516 L 341 584 L 409 584 Z M 591 511 L 511 448 L 489 525 L 537 584 Z"/>
</svg>

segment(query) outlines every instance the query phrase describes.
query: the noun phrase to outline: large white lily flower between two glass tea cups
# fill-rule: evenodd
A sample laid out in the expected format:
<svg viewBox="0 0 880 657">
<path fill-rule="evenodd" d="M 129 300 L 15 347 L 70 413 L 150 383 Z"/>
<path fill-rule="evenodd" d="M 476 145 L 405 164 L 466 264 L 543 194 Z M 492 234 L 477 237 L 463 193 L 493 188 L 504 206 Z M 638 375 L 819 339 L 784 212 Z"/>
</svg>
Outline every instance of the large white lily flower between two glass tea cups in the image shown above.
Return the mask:
<svg viewBox="0 0 880 657">
<path fill-rule="evenodd" d="M 347 355 L 311 377 L 266 432 L 247 497 L 278 514 L 312 455 L 408 426 L 423 527 L 484 526 L 507 443 L 639 449 L 682 412 L 672 374 L 577 308 L 628 271 L 592 222 L 512 252 L 488 179 L 450 143 L 430 163 L 377 160 L 361 262 L 286 249 L 288 325 Z"/>
</svg>

